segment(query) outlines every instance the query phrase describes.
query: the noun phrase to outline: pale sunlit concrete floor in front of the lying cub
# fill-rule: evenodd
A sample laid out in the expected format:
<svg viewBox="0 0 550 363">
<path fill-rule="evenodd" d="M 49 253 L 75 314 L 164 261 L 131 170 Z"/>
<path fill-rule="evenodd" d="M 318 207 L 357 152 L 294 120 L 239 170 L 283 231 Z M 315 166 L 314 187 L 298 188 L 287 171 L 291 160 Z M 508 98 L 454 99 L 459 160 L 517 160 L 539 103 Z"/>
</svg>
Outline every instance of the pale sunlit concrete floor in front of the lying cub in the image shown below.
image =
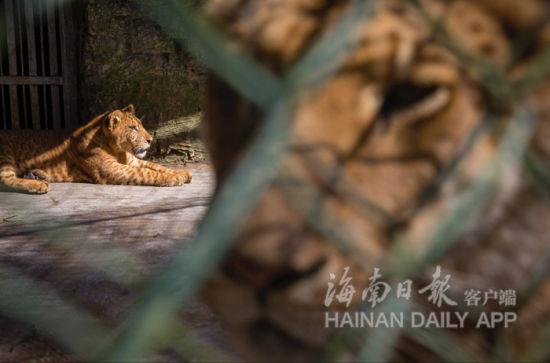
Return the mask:
<svg viewBox="0 0 550 363">
<path fill-rule="evenodd" d="M 51 184 L 45 195 L 0 191 L 0 267 L 46 284 L 105 321 L 118 321 L 135 287 L 185 248 L 207 210 L 212 172 L 201 164 L 191 169 L 192 183 L 174 188 Z M 4 273 L 0 283 L 10 278 Z M 2 316 L 1 361 L 50 355 L 43 349 L 52 345 L 43 337 L 26 339 L 32 327 Z M 184 316 L 208 338 L 221 334 L 200 302 L 192 302 Z"/>
</svg>

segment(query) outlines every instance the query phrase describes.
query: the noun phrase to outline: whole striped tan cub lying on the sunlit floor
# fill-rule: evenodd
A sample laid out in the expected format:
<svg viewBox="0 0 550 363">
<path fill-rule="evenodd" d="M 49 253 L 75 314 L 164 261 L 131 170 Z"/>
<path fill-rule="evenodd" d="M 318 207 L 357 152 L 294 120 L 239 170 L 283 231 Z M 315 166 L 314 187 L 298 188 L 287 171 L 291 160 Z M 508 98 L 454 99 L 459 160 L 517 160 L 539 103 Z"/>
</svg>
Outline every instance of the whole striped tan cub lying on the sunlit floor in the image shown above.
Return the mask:
<svg viewBox="0 0 550 363">
<path fill-rule="evenodd" d="M 151 141 L 133 105 L 99 115 L 72 133 L 2 131 L 0 183 L 34 194 L 47 193 L 48 182 L 150 186 L 189 183 L 188 170 L 141 160 Z"/>
</svg>

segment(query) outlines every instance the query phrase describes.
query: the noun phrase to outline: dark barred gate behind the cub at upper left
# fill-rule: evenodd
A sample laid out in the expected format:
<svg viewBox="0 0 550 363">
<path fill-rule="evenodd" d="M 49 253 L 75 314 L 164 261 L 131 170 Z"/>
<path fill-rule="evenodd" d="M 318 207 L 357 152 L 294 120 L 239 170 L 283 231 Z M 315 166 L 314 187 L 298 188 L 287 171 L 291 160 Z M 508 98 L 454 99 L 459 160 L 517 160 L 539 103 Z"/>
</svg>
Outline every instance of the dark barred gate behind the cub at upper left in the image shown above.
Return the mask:
<svg viewBox="0 0 550 363">
<path fill-rule="evenodd" d="M 72 19 L 63 0 L 0 0 L 0 129 L 77 123 Z"/>
</svg>

